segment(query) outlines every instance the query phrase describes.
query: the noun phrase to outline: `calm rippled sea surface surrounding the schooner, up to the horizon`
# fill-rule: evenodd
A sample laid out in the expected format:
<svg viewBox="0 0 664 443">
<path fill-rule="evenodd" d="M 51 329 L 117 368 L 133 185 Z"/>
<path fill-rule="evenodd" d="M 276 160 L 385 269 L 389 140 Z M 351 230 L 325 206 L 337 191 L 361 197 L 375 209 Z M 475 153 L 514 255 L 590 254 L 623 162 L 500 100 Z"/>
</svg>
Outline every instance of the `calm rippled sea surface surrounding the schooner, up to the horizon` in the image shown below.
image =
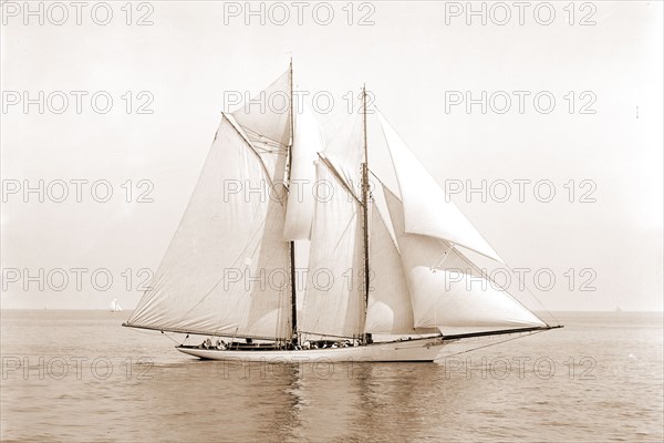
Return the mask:
<svg viewBox="0 0 664 443">
<path fill-rule="evenodd" d="M 556 313 L 436 363 L 236 367 L 122 328 L 1 313 L 1 437 L 21 442 L 662 442 L 661 313 Z M 485 346 L 486 343 L 478 343 Z"/>
</svg>

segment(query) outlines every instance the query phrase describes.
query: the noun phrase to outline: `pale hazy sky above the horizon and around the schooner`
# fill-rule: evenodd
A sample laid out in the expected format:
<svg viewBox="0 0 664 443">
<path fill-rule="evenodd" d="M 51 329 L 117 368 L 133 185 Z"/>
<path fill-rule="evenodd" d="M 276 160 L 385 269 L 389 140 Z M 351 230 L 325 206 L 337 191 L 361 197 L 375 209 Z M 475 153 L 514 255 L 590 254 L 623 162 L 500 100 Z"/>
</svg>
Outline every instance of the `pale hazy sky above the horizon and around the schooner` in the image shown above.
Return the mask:
<svg viewBox="0 0 664 443">
<path fill-rule="evenodd" d="M 526 284 L 547 308 L 662 310 L 662 3 L 551 3 L 552 18 L 529 3 L 522 24 L 511 2 L 485 3 L 483 25 L 466 2 L 340 2 L 331 19 L 313 2 L 301 24 L 290 2 L 284 24 L 284 9 L 269 3 L 261 24 L 245 2 L 133 3 L 131 17 L 112 2 L 101 25 L 106 9 L 96 2 L 80 11 L 81 24 L 66 2 L 66 20 L 43 3 L 43 24 L 23 2 L 3 2 L 2 307 L 106 308 L 118 298 L 133 308 L 149 276 L 141 269 L 159 264 L 228 91 L 259 91 L 292 53 L 300 87 L 334 97 L 338 113 L 366 82 L 436 179 L 464 187 L 453 200 L 511 267 L 529 269 Z M 468 112 L 466 99 L 481 102 L 483 91 L 486 114 L 481 103 Z M 28 112 L 24 99 L 34 100 Z M 385 156 L 376 148 L 370 163 L 385 167 Z M 50 185 L 43 203 L 23 193 L 40 179 Z M 59 181 L 63 203 L 54 202 Z M 486 203 L 465 193 L 481 181 L 492 189 Z M 94 182 L 97 199 L 113 190 L 108 202 L 93 198 Z M 501 203 L 505 183 L 511 196 Z M 556 276 L 552 288 L 537 288 L 538 269 Z"/>
</svg>

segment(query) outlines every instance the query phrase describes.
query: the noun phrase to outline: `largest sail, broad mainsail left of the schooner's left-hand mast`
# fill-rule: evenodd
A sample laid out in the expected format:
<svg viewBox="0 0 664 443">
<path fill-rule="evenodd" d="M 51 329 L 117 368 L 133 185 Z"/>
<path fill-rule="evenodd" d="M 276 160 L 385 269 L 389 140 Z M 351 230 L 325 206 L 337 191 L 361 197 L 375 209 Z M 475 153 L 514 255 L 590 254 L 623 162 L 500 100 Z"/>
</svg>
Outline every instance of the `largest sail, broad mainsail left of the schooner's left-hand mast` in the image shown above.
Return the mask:
<svg viewBox="0 0 664 443">
<path fill-rule="evenodd" d="M 278 157 L 281 157 L 280 155 Z M 289 249 L 271 176 L 226 117 L 187 209 L 129 326 L 290 338 Z"/>
</svg>

